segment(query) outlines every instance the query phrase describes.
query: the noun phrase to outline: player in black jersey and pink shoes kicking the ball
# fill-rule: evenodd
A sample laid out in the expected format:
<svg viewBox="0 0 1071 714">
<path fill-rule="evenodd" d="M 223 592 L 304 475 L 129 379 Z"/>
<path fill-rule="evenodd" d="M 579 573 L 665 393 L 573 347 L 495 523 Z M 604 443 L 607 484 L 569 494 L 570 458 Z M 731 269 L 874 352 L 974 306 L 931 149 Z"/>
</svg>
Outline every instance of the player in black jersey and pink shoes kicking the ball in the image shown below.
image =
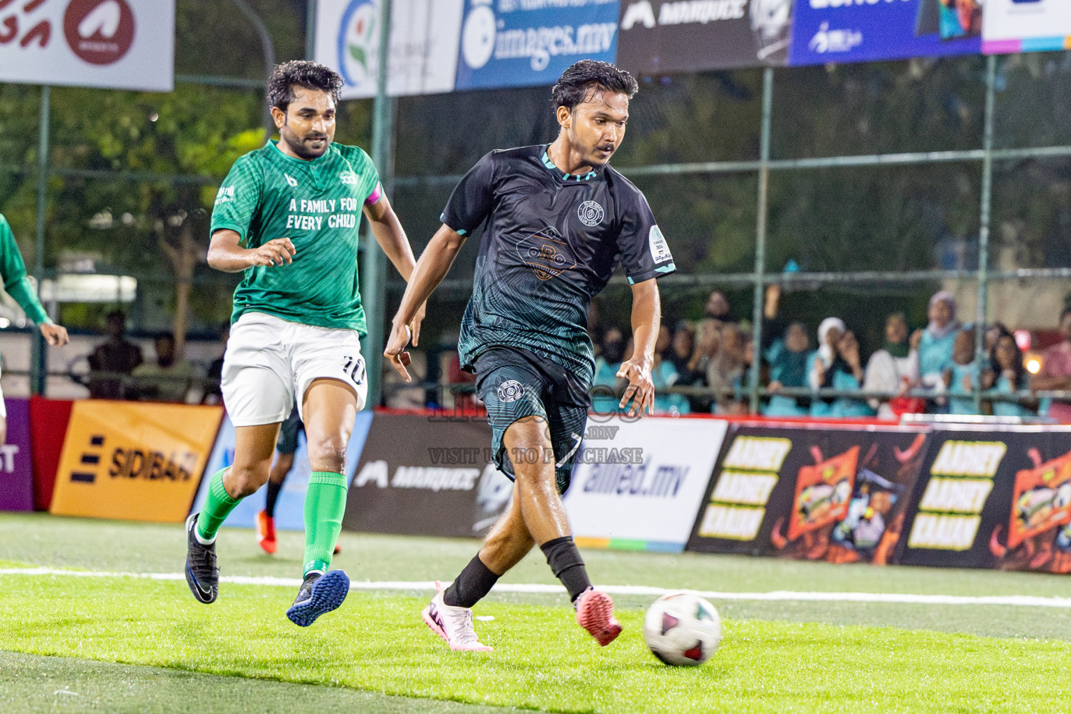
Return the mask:
<svg viewBox="0 0 1071 714">
<path fill-rule="evenodd" d="M 477 376 L 497 466 L 514 478 L 510 510 L 472 561 L 423 617 L 454 650 L 481 650 L 470 609 L 533 545 L 546 555 L 577 622 L 606 645 L 620 634 L 614 603 L 593 590 L 560 493 L 584 435 L 594 371 L 588 306 L 617 269 L 632 286 L 635 350 L 618 376 L 621 408 L 650 412 L 651 363 L 661 318 L 652 278 L 673 256 L 643 193 L 609 167 L 624 138 L 633 77 L 584 60 L 552 90 L 560 124 L 550 145 L 493 151 L 454 188 L 442 227 L 413 271 L 384 356 L 408 381 L 406 326 L 439 285 L 465 238 L 486 223 L 472 298 L 462 320 L 462 366 Z"/>
</svg>

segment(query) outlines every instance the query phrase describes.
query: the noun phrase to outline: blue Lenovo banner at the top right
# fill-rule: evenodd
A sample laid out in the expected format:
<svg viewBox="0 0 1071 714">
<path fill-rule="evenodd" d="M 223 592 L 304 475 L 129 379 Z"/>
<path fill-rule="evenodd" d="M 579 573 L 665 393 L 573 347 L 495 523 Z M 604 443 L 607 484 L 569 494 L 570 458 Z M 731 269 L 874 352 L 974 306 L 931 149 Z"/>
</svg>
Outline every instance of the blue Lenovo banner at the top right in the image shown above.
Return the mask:
<svg viewBox="0 0 1071 714">
<path fill-rule="evenodd" d="M 972 0 L 796 0 L 790 65 L 979 54 Z"/>
</svg>

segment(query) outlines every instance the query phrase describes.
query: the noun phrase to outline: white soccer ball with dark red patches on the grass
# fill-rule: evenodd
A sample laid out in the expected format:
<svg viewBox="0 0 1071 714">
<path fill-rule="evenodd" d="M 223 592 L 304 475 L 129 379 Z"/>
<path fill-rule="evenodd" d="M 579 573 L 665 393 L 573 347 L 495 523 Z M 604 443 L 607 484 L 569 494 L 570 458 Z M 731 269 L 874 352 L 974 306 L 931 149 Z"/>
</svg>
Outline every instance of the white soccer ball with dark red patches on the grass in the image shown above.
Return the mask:
<svg viewBox="0 0 1071 714">
<path fill-rule="evenodd" d="M 694 667 L 718 651 L 722 619 L 714 606 L 698 595 L 670 593 L 647 608 L 644 640 L 663 663 Z"/>
</svg>

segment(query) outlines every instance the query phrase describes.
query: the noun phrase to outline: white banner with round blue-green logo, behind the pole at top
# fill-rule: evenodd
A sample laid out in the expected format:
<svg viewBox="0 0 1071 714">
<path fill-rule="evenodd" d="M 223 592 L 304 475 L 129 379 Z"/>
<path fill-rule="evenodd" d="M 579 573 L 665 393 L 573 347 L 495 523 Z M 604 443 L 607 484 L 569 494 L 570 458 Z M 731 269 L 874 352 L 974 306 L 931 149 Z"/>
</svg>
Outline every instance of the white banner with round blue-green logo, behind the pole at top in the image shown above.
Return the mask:
<svg viewBox="0 0 1071 714">
<path fill-rule="evenodd" d="M 0 0 L 2 2 L 2 0 Z M 393 0 L 387 90 L 452 92 L 464 0 Z M 376 95 L 380 0 L 318 0 L 314 57 L 346 80 L 344 100 Z"/>
</svg>

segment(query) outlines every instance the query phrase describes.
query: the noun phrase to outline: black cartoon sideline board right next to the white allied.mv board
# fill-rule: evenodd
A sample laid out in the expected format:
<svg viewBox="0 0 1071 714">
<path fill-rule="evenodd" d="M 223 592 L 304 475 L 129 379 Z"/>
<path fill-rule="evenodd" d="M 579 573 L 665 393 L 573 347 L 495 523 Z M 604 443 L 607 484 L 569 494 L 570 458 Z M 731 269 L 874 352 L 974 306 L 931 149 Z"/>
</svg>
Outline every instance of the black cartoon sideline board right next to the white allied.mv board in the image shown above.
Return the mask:
<svg viewBox="0 0 1071 714">
<path fill-rule="evenodd" d="M 923 428 L 734 425 L 688 548 L 894 562 L 925 454 Z"/>
</svg>

